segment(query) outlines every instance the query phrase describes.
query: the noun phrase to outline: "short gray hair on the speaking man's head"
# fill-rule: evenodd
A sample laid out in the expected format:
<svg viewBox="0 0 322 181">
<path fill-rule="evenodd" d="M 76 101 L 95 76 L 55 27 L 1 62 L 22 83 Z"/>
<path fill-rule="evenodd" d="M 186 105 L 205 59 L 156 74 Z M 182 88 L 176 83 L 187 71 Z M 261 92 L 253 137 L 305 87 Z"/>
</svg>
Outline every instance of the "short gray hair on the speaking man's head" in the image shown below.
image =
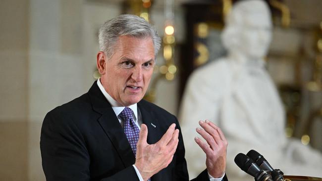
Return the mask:
<svg viewBox="0 0 322 181">
<path fill-rule="evenodd" d="M 158 32 L 144 18 L 136 15 L 123 14 L 106 21 L 99 30 L 100 50 L 110 57 L 113 54 L 114 45 L 120 36 L 133 36 L 137 38 L 151 37 L 154 45 L 154 53 L 158 54 L 161 46 L 161 38 Z"/>
</svg>

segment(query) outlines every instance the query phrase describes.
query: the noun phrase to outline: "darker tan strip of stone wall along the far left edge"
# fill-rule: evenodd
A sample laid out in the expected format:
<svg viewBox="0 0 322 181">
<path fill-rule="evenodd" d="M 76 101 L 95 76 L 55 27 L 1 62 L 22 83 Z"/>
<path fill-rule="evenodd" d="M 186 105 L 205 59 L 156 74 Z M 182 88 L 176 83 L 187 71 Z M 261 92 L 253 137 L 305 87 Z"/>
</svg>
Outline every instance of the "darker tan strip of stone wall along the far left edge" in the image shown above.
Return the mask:
<svg viewBox="0 0 322 181">
<path fill-rule="evenodd" d="M 28 0 L 0 5 L 0 176 L 27 177 L 28 162 Z"/>
</svg>

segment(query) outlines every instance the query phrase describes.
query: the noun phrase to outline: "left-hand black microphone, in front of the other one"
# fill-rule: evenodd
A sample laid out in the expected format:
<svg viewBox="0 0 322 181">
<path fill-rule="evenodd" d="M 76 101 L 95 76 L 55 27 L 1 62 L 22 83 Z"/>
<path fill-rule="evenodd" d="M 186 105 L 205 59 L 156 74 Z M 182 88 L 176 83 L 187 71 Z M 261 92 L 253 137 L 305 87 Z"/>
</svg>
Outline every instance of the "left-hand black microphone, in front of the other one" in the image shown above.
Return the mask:
<svg viewBox="0 0 322 181">
<path fill-rule="evenodd" d="M 238 153 L 235 157 L 236 165 L 247 174 L 253 176 L 255 181 L 273 181 L 271 175 L 262 170 L 254 161 L 243 153 Z"/>
</svg>

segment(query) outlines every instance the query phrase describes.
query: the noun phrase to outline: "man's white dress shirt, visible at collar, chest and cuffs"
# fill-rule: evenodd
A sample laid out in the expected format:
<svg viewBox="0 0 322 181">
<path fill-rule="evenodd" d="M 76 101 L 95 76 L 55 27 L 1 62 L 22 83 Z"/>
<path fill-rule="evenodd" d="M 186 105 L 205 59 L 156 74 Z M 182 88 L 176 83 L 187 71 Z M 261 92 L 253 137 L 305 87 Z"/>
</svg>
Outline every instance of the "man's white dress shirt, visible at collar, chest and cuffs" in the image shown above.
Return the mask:
<svg viewBox="0 0 322 181">
<path fill-rule="evenodd" d="M 121 124 L 121 126 L 123 127 L 123 122 L 119 117 L 119 114 L 123 111 L 123 109 L 125 108 L 124 106 L 122 106 L 120 103 L 118 103 L 115 99 L 113 99 L 108 93 L 107 91 L 104 89 L 100 78 L 97 80 L 97 85 L 100 88 L 100 90 L 102 91 L 102 93 L 104 94 L 104 96 L 106 97 L 107 101 L 110 103 L 110 105 L 112 106 L 112 109 L 115 113 L 115 115 L 117 116 L 117 119 L 119 121 L 119 123 Z M 130 109 L 132 109 L 133 111 L 133 120 L 136 124 L 136 126 L 139 128 L 139 130 L 141 129 L 141 124 L 142 122 L 142 115 L 140 110 L 138 109 L 137 103 L 132 104 L 130 106 L 128 106 Z M 135 169 L 136 174 L 138 175 L 138 178 L 140 181 L 143 181 L 143 178 L 139 172 L 139 170 L 136 168 L 136 166 L 133 164 L 133 167 Z M 224 175 L 221 178 L 213 178 L 209 173 L 208 173 L 209 179 L 210 181 L 221 181 L 222 178 L 224 177 Z"/>
</svg>

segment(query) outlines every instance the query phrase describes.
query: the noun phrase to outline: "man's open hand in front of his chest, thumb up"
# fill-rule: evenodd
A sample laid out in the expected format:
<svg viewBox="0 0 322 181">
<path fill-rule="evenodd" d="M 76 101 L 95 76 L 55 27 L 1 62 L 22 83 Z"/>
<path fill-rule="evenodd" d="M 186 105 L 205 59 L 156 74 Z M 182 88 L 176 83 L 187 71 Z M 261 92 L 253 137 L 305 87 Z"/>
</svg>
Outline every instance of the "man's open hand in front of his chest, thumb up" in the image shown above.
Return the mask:
<svg viewBox="0 0 322 181">
<path fill-rule="evenodd" d="M 136 146 L 134 165 L 139 170 L 144 181 L 170 164 L 178 146 L 179 130 L 175 130 L 175 124 L 172 124 L 155 144 L 148 144 L 147 136 L 148 128 L 145 124 L 142 124 Z"/>
</svg>

